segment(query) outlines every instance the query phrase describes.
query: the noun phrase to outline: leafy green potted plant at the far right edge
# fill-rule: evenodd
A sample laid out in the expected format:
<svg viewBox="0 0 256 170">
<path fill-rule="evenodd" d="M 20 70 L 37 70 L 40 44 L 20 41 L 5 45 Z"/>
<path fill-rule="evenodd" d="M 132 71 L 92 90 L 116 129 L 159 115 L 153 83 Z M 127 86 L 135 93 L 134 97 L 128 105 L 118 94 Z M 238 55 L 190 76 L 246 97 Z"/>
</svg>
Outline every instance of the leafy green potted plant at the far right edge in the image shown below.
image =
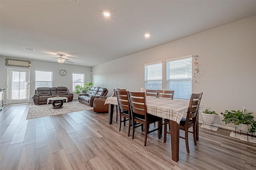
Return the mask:
<svg viewBox="0 0 256 170">
<path fill-rule="evenodd" d="M 256 131 L 256 121 L 252 113 L 244 114 L 242 111 L 225 111 L 224 119 L 225 124 L 234 123 L 239 130 L 254 133 Z"/>
</svg>

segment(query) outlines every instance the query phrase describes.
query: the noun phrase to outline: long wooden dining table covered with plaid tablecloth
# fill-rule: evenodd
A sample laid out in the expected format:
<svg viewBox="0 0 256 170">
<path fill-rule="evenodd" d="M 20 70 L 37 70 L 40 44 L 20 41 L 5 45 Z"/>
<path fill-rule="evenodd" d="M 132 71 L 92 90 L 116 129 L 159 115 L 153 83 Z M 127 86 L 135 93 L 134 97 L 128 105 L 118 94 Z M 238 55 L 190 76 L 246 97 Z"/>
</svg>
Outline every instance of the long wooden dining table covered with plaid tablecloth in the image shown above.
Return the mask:
<svg viewBox="0 0 256 170">
<path fill-rule="evenodd" d="M 108 124 L 112 124 L 114 106 L 118 105 L 116 97 L 108 97 Z M 170 120 L 172 160 L 179 160 L 180 120 L 186 116 L 189 101 L 146 97 L 147 113 Z M 198 120 L 198 119 L 197 119 Z M 196 123 L 196 140 L 198 140 L 198 121 Z"/>
</svg>

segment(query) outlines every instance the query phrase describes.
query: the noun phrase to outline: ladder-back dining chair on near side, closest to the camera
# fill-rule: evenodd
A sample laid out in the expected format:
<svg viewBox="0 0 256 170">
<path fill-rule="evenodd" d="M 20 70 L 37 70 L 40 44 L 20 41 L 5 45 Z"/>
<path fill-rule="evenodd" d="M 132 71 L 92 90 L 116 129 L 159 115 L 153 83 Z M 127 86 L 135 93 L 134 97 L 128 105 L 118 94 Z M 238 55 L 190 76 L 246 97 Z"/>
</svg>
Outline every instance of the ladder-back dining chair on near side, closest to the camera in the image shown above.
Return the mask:
<svg viewBox="0 0 256 170">
<path fill-rule="evenodd" d="M 160 139 L 160 129 L 162 118 L 150 115 L 147 113 L 146 105 L 146 95 L 143 92 L 131 92 L 128 91 L 128 99 L 130 103 L 131 113 L 132 113 L 132 138 L 134 138 L 134 129 L 136 127 L 145 126 L 145 139 L 144 146 L 146 146 L 147 136 L 149 133 L 158 130 L 158 138 Z M 135 122 L 140 123 L 140 125 L 135 126 Z M 158 122 L 158 128 L 149 130 L 151 123 Z"/>
</svg>

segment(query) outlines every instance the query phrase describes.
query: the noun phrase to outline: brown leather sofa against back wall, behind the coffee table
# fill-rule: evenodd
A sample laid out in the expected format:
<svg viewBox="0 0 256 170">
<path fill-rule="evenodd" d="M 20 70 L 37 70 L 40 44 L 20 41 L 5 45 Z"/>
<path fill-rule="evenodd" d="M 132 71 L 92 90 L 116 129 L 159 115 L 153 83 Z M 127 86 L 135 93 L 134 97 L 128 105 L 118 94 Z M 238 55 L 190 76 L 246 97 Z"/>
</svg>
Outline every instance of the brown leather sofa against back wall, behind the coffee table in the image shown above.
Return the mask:
<svg viewBox="0 0 256 170">
<path fill-rule="evenodd" d="M 68 87 L 37 87 L 33 95 L 33 101 L 35 105 L 44 105 L 47 104 L 48 98 L 56 97 L 56 95 L 68 98 L 68 102 L 73 100 L 73 93 L 69 93 Z"/>
</svg>

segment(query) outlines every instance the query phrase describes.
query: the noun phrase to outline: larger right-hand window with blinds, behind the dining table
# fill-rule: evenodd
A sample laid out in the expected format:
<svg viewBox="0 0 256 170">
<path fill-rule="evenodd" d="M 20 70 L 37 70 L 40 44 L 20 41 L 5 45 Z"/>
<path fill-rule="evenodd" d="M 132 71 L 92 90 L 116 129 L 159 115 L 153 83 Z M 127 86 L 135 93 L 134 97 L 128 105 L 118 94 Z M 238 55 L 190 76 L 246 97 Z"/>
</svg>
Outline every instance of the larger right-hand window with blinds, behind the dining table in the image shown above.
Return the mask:
<svg viewBox="0 0 256 170">
<path fill-rule="evenodd" d="M 192 55 L 166 61 L 167 89 L 175 99 L 190 99 L 192 93 Z"/>
</svg>

